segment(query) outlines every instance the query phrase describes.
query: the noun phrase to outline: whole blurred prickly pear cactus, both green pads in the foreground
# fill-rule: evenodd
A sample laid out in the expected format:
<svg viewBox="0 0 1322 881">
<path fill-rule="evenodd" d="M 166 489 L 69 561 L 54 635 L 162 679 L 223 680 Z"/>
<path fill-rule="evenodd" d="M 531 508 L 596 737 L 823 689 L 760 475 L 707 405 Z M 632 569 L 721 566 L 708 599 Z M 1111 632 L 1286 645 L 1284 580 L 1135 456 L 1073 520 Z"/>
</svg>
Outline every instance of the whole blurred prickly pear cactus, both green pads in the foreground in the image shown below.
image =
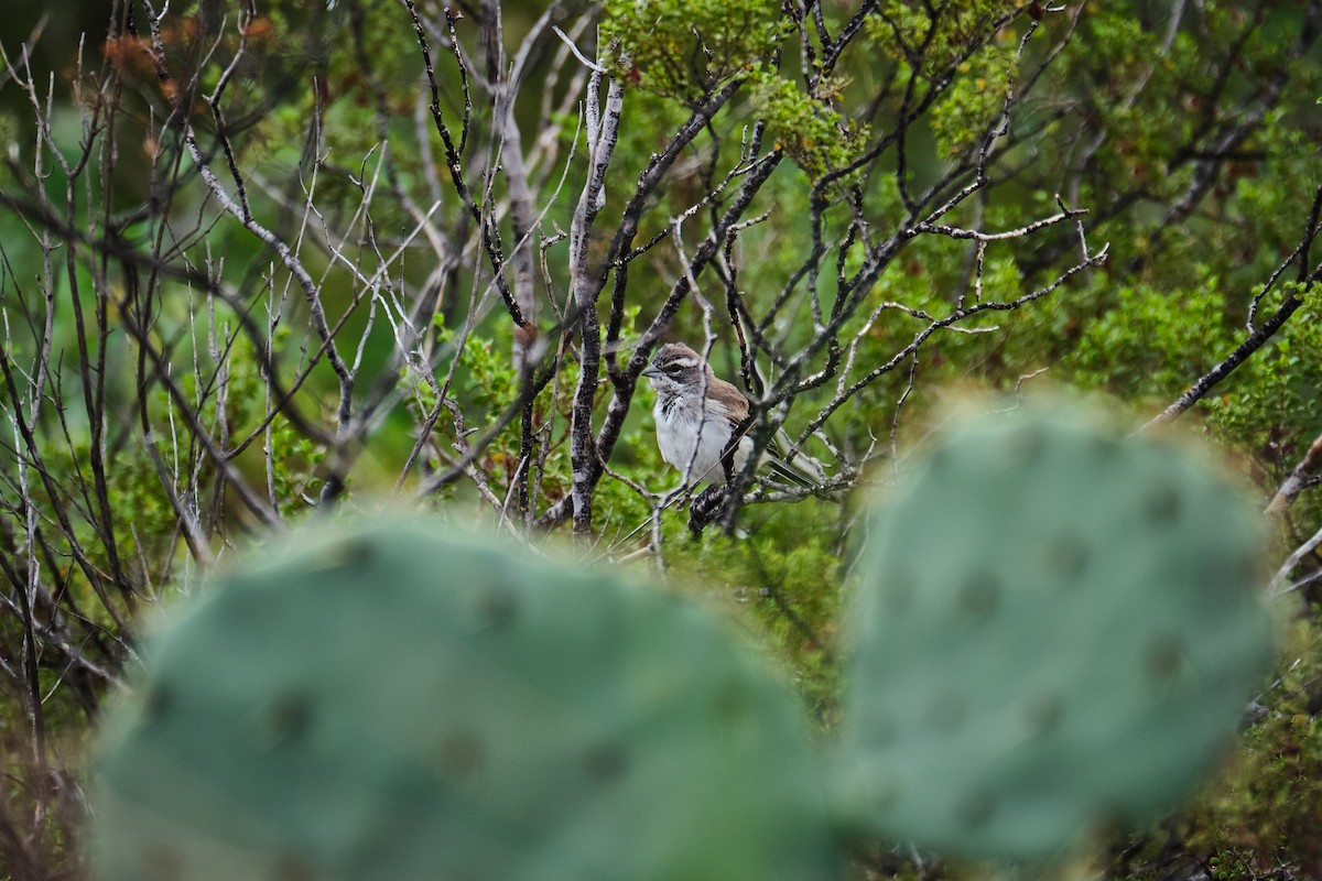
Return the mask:
<svg viewBox="0 0 1322 881">
<path fill-rule="evenodd" d="M 325 528 L 156 635 L 103 732 L 95 873 L 800 881 L 858 835 L 1059 857 L 1174 810 L 1233 737 L 1272 656 L 1257 540 L 1182 444 L 956 420 L 869 519 L 822 754 L 673 593 Z"/>
</svg>

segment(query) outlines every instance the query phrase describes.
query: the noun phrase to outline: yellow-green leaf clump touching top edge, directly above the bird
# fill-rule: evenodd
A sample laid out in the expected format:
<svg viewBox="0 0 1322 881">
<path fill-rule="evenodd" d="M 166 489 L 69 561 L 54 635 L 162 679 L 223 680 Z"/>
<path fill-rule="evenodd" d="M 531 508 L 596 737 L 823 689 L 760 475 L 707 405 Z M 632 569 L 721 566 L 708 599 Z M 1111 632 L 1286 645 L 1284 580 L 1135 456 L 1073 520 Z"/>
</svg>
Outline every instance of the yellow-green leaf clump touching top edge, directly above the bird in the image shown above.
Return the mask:
<svg viewBox="0 0 1322 881">
<path fill-rule="evenodd" d="M 686 102 L 767 58 L 784 33 L 775 0 L 608 0 L 602 24 L 628 79 Z"/>
</svg>

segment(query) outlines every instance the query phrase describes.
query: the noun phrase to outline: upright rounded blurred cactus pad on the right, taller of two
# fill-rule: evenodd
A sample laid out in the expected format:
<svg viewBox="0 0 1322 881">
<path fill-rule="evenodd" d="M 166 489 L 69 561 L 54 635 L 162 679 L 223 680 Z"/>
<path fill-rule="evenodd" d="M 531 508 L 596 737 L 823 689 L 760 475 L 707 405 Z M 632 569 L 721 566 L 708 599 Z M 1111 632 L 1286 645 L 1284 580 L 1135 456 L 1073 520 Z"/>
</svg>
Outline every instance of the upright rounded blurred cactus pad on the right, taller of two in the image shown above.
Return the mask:
<svg viewBox="0 0 1322 881">
<path fill-rule="evenodd" d="M 891 840 L 1038 860 L 1174 810 L 1264 684 L 1259 538 L 1186 444 L 1059 402 L 956 420 L 858 563 L 853 811 Z"/>
</svg>

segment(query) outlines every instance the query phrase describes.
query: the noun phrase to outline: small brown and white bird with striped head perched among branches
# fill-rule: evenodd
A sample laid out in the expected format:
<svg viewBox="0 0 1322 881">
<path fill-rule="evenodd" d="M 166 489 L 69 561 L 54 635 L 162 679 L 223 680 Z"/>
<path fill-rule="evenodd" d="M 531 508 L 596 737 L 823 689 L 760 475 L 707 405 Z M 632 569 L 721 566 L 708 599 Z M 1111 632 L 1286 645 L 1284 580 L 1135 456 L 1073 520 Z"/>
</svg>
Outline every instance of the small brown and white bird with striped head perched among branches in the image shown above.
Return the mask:
<svg viewBox="0 0 1322 881">
<path fill-rule="evenodd" d="M 661 458 L 680 469 L 690 486 L 701 482 L 724 486 L 752 454 L 754 442 L 747 433 L 731 449 L 735 432 L 747 428 L 742 424 L 748 417 L 748 399 L 682 342 L 661 346 L 642 375 L 656 391 L 652 413 Z M 821 464 L 804 453 L 796 453 L 792 462 L 764 456 L 759 464 L 771 464 L 780 477 L 800 486 L 825 481 Z"/>
</svg>

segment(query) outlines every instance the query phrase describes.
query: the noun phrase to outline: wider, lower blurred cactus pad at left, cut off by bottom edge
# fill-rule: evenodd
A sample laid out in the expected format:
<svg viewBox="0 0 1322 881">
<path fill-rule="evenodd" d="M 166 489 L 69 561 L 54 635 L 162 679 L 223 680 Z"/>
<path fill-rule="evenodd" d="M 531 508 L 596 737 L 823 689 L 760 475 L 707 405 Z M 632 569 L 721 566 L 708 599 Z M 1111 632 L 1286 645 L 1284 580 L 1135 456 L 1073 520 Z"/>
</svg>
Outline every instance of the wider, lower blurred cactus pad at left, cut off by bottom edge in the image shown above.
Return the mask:
<svg viewBox="0 0 1322 881">
<path fill-rule="evenodd" d="M 837 877 L 796 700 L 722 626 L 440 528 L 297 536 L 157 634 L 95 877 Z"/>
</svg>

